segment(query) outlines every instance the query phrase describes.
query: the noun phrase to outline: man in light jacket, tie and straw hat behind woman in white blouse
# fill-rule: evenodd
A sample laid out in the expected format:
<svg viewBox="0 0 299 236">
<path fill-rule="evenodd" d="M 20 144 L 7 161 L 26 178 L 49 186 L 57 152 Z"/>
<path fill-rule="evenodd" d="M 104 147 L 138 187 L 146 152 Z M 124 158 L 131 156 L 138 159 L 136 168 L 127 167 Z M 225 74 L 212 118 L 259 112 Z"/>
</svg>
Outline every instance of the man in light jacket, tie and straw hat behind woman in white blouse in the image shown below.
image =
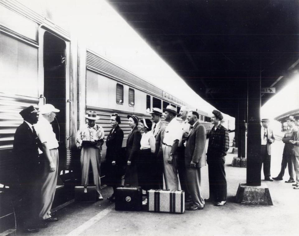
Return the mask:
<svg viewBox="0 0 299 236">
<path fill-rule="evenodd" d="M 155 153 L 154 153 L 154 163 L 155 163 L 155 170 L 153 174 L 155 189 L 163 189 L 163 151 L 161 145 L 161 135 L 164 134 L 165 125 L 161 121 L 162 110 L 160 108 L 153 108 L 153 111 L 150 112 L 152 116 L 152 120 L 154 121 L 154 125 L 152 126 L 151 132 L 155 138 Z"/>
</svg>

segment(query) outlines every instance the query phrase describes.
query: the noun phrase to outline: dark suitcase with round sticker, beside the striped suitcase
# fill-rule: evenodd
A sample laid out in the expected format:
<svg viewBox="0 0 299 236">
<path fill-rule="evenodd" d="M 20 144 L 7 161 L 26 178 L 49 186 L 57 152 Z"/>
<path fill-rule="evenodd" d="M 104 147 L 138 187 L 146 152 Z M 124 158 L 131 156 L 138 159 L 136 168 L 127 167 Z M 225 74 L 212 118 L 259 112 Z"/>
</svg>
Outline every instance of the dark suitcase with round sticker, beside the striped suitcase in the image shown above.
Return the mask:
<svg viewBox="0 0 299 236">
<path fill-rule="evenodd" d="M 115 210 L 142 210 L 142 189 L 131 185 L 115 189 Z"/>
</svg>

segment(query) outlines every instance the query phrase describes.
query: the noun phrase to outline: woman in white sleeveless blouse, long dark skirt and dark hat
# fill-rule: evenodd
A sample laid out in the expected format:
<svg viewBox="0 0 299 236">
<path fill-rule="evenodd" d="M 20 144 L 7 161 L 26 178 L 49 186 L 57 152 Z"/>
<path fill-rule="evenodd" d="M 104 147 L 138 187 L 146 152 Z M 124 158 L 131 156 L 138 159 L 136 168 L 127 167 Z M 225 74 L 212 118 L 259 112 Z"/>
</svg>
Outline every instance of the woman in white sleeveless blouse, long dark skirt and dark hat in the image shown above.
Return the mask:
<svg viewBox="0 0 299 236">
<path fill-rule="evenodd" d="M 140 140 L 140 158 L 138 160 L 138 182 L 143 190 L 150 190 L 154 187 L 154 153 L 156 149 L 156 139 L 151 131 L 152 122 L 150 119 L 141 119 L 140 128 L 144 133 Z M 142 202 L 142 205 L 147 204 L 147 198 Z"/>
</svg>

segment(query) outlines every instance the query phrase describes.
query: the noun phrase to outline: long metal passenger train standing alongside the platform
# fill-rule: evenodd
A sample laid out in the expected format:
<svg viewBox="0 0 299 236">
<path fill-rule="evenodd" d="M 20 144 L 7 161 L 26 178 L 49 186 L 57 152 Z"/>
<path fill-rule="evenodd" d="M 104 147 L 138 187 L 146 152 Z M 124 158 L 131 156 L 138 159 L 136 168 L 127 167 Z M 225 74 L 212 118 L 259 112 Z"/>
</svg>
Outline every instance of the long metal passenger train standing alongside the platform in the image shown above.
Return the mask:
<svg viewBox="0 0 299 236">
<path fill-rule="evenodd" d="M 171 105 L 179 111 L 181 106 L 190 106 L 105 58 L 97 49 L 81 45 L 68 30 L 51 22 L 49 12 L 33 11 L 15 0 L 0 0 L 0 16 L 0 184 L 4 190 L 14 178 L 13 136 L 22 123 L 19 112 L 26 106 L 50 103 L 60 110 L 53 129 L 59 140 L 61 188 L 80 176 L 80 169 L 75 168 L 79 163 L 75 140 L 88 111 L 97 111 L 97 124 L 104 128 L 106 137 L 111 129 L 110 114 L 118 113 L 125 147 L 130 132 L 128 114 L 150 118 L 148 111 L 153 107 Z M 200 122 L 210 129 L 211 111 L 190 108 L 199 112 Z M 105 153 L 104 144 L 102 161 Z M 57 191 L 56 195 L 63 198 L 64 193 Z"/>
</svg>

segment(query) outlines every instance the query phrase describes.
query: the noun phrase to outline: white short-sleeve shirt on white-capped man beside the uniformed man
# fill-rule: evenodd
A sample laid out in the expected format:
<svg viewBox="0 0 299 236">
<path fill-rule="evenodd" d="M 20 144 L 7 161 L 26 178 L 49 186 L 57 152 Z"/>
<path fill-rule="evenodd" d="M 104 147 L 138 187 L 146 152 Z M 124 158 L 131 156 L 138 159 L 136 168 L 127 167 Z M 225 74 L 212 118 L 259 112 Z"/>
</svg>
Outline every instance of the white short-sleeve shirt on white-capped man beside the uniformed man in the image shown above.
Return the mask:
<svg viewBox="0 0 299 236">
<path fill-rule="evenodd" d="M 47 142 L 49 149 L 58 148 L 59 144 L 57 142 L 56 135 L 48 120 L 46 120 L 43 116 L 40 116 L 39 120 L 34 125 L 34 128 L 41 143 Z"/>
</svg>

